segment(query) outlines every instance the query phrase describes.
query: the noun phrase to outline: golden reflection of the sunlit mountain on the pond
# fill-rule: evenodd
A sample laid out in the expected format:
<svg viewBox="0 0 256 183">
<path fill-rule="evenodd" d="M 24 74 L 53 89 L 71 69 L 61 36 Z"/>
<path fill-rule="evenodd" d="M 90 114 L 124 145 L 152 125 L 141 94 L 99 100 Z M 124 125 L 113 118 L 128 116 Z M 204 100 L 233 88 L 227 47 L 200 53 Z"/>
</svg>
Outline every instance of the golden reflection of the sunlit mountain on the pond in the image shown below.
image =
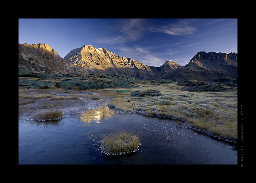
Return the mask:
<svg viewBox="0 0 256 183">
<path fill-rule="evenodd" d="M 107 105 L 103 105 L 97 109 L 87 109 L 86 112 L 80 114 L 81 121 L 90 123 L 100 123 L 102 120 L 116 115 L 116 112 Z"/>
</svg>

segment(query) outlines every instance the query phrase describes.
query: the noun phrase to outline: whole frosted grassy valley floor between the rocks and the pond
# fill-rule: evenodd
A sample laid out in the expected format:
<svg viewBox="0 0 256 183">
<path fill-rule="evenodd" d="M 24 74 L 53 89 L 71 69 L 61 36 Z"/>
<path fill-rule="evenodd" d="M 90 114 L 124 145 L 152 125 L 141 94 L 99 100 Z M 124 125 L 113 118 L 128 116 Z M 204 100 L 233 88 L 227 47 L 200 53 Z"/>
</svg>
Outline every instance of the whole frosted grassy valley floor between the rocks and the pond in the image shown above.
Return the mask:
<svg viewBox="0 0 256 183">
<path fill-rule="evenodd" d="M 237 87 L 225 85 L 223 91 L 188 91 L 176 82 L 150 81 L 137 82 L 135 86 L 87 90 L 19 86 L 19 115 L 28 115 L 28 111 L 33 115 L 38 109 L 45 108 L 63 110 L 63 106 L 72 107 L 75 103 L 79 103 L 79 108 L 76 105 L 72 110 L 79 113 L 108 104 L 116 112 L 177 119 L 177 125 L 237 142 Z M 70 108 L 65 112 L 70 112 Z"/>
</svg>

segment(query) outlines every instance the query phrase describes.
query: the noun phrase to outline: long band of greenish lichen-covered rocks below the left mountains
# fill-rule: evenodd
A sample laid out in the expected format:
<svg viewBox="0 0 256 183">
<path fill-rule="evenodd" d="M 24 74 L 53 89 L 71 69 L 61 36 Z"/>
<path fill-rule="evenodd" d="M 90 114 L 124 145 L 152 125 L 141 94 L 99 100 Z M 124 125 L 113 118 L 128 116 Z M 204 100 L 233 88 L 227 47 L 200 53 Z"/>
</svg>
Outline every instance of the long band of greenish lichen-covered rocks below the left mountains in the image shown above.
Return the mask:
<svg viewBox="0 0 256 183">
<path fill-rule="evenodd" d="M 49 81 L 50 80 L 50 81 Z M 19 86 L 33 89 L 64 88 L 64 89 L 99 89 L 99 88 L 134 88 L 138 80 L 131 76 L 118 74 L 52 74 L 35 73 L 19 68 Z"/>
</svg>

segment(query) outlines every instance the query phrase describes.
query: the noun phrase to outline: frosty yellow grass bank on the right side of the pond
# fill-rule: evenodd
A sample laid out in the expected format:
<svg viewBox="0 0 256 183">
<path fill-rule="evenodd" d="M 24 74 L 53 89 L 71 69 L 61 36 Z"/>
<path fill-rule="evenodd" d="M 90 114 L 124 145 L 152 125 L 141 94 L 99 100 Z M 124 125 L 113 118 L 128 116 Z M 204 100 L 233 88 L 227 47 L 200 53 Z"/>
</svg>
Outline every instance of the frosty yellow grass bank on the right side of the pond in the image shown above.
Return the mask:
<svg viewBox="0 0 256 183">
<path fill-rule="evenodd" d="M 216 137 L 237 140 L 237 89 L 221 92 L 190 92 L 175 83 L 132 88 L 133 91 L 155 89 L 162 96 L 134 97 L 131 93 L 117 94 L 108 106 L 117 112 L 137 112 L 182 121 Z"/>
</svg>

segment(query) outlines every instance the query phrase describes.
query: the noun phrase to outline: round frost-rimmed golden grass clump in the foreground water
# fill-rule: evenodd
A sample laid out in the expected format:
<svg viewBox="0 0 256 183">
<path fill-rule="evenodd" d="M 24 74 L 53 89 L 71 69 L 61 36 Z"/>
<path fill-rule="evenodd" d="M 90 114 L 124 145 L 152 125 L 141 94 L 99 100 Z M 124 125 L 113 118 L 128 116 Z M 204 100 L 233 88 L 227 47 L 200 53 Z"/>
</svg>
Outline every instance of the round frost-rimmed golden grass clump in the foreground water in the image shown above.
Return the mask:
<svg viewBox="0 0 256 183">
<path fill-rule="evenodd" d="M 111 133 L 105 135 L 99 142 L 101 152 L 107 155 L 121 155 L 130 152 L 136 152 L 140 146 L 140 140 L 136 133 L 126 131 L 119 134 Z"/>
</svg>

